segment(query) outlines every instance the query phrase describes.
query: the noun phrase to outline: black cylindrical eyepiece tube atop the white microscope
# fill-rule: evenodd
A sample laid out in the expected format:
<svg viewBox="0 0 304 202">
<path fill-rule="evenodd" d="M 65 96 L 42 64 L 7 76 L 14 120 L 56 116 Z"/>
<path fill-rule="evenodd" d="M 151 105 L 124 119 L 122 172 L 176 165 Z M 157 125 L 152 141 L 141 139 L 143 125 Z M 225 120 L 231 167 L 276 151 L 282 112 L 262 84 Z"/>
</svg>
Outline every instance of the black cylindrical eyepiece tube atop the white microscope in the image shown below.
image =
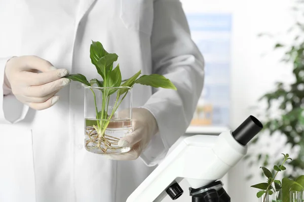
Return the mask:
<svg viewBox="0 0 304 202">
<path fill-rule="evenodd" d="M 254 116 L 249 116 L 235 131 L 234 138 L 242 145 L 246 145 L 263 128 L 262 123 Z"/>
</svg>

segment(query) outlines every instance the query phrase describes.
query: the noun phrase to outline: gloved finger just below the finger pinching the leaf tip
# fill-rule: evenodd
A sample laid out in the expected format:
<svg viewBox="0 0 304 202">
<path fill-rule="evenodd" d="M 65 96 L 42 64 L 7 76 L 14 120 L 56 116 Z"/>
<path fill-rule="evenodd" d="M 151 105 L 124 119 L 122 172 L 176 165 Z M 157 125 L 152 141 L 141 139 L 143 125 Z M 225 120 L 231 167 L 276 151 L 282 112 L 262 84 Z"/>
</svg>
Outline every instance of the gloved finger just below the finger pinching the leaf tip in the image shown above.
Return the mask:
<svg viewBox="0 0 304 202">
<path fill-rule="evenodd" d="M 56 81 L 52 81 L 50 83 L 40 85 L 40 86 L 28 86 L 25 92 L 26 96 L 32 97 L 43 97 L 56 90 L 60 90 L 64 86 L 68 85 L 70 80 L 67 78 L 61 78 Z"/>
</svg>

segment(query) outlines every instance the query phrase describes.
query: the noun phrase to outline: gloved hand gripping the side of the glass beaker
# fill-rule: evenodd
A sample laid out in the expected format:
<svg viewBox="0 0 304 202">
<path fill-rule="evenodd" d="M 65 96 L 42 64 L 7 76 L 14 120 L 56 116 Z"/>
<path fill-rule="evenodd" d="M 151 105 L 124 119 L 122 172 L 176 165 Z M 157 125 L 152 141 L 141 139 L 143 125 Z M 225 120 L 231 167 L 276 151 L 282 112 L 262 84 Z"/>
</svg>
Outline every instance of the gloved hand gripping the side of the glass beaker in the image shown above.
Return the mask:
<svg viewBox="0 0 304 202">
<path fill-rule="evenodd" d="M 136 160 L 146 148 L 151 138 L 158 132 L 158 125 L 155 117 L 144 108 L 132 109 L 133 133 L 121 138 L 119 146 L 131 146 L 128 153 L 106 155 L 111 160 Z"/>
</svg>

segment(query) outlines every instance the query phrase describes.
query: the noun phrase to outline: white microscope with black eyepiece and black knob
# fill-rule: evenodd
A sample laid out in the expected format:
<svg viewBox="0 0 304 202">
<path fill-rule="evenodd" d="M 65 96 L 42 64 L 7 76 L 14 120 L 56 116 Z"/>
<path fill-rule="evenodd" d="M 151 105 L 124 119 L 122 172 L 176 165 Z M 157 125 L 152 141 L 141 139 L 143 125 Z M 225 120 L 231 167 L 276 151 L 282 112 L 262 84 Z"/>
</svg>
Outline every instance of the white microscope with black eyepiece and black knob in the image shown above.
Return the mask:
<svg viewBox="0 0 304 202">
<path fill-rule="evenodd" d="M 263 128 L 249 116 L 236 130 L 218 136 L 184 138 L 159 166 L 135 189 L 127 202 L 161 202 L 183 194 L 179 182 L 187 180 L 192 202 L 230 202 L 219 181 L 247 153 L 247 143 Z"/>
</svg>

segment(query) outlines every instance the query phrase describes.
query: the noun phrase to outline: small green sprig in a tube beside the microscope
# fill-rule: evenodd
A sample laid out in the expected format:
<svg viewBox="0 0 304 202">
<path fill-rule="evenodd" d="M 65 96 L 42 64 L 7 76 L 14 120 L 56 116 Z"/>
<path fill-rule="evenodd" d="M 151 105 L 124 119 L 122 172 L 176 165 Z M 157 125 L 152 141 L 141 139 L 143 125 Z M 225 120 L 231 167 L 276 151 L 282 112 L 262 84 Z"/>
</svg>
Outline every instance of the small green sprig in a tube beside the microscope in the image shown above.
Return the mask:
<svg viewBox="0 0 304 202">
<path fill-rule="evenodd" d="M 282 155 L 284 155 L 284 154 L 282 154 Z M 269 195 L 272 195 L 272 194 L 274 193 L 275 189 L 281 189 L 281 188 L 282 188 L 282 187 L 281 187 L 281 185 L 282 185 L 281 181 L 280 181 L 280 180 L 277 180 L 276 177 L 277 177 L 277 175 L 278 175 L 279 172 L 286 170 L 284 164 L 285 164 L 285 162 L 286 162 L 287 160 L 292 160 L 292 159 L 289 157 L 288 154 L 284 155 L 284 160 L 283 160 L 282 164 L 280 164 L 280 165 L 275 165 L 275 166 L 274 166 L 274 168 L 273 168 L 274 171 L 275 171 L 275 174 L 274 174 L 274 175 L 273 175 L 273 173 L 272 173 L 270 170 L 268 170 L 267 168 L 265 168 L 265 167 L 260 167 L 260 168 L 262 169 L 264 175 L 267 177 L 267 182 L 262 182 L 262 183 L 255 184 L 255 185 L 252 185 L 252 186 L 251 186 L 251 187 L 253 187 L 253 188 L 261 189 L 261 191 L 258 191 L 258 192 L 256 193 L 256 196 L 257 196 L 258 198 L 260 198 L 260 197 L 261 197 L 263 194 L 265 194 L 265 193 L 268 193 Z M 274 191 L 272 191 L 272 190 L 274 190 Z M 283 192 L 283 194 L 284 194 L 284 192 Z M 288 196 L 289 196 L 289 194 L 288 194 Z M 283 196 L 283 197 L 284 197 L 284 196 Z M 264 201 L 263 201 L 263 202 L 265 202 L 265 198 L 264 198 Z M 268 202 L 268 201 L 267 201 L 267 202 Z"/>
</svg>

